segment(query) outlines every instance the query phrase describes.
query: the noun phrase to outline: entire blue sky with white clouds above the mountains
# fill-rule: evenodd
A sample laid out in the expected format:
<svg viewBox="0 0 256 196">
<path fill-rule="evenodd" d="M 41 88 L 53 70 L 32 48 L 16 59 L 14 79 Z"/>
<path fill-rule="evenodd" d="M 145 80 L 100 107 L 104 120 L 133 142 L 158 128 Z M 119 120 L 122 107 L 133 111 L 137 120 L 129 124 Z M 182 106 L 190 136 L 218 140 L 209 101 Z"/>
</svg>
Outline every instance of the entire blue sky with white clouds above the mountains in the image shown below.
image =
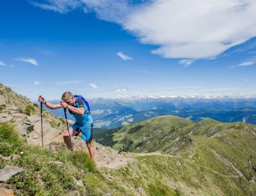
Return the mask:
<svg viewBox="0 0 256 196">
<path fill-rule="evenodd" d="M 254 0 L 7 0 L 0 82 L 31 99 L 256 95 Z"/>
</svg>

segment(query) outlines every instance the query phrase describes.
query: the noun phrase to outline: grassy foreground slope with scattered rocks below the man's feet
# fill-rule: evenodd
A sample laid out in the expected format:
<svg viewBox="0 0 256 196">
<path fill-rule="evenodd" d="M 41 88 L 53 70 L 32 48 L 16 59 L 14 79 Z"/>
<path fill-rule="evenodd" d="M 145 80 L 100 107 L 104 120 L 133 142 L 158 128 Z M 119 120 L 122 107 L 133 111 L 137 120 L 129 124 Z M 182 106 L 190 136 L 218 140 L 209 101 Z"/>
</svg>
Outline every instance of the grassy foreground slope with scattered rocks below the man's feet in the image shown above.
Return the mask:
<svg viewBox="0 0 256 196">
<path fill-rule="evenodd" d="M 5 165 L 24 169 L 5 184 L 16 196 L 133 196 L 131 191 L 109 179 L 82 150 L 68 153 L 59 144 L 56 153 L 29 146 L 13 126 L 0 124 L 0 169 Z M 24 152 L 19 155 L 20 152 Z M 9 158 L 7 158 L 9 156 Z M 61 162 L 61 163 L 60 163 Z M 76 181 L 82 185 L 77 185 Z M 2 185 L 1 185 L 2 187 Z"/>
</svg>

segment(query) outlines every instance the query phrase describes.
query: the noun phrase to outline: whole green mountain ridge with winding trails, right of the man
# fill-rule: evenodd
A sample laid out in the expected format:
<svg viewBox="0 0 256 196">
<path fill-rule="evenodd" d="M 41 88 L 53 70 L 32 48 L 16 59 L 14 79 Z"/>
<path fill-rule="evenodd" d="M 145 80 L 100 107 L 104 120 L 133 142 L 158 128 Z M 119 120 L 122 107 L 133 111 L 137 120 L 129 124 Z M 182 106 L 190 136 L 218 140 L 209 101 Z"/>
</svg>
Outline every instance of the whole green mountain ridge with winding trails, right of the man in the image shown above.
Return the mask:
<svg viewBox="0 0 256 196">
<path fill-rule="evenodd" d="M 168 119 L 166 122 L 170 124 L 164 124 L 163 119 Z M 163 190 L 167 186 L 179 187 L 187 195 L 255 195 L 256 126 L 214 120 L 186 125 L 184 120 L 165 116 L 105 134 L 117 142 L 113 147 L 120 147 L 122 142 L 124 145 L 124 141 L 130 140 L 129 151 L 153 152 L 128 153 L 136 156 L 138 164 L 143 162 L 143 166 L 130 167 L 140 172 L 143 179 L 154 176 L 155 185 L 159 183 Z M 144 127 L 148 129 L 142 132 Z M 144 140 L 146 142 L 139 143 L 145 136 L 149 136 Z M 154 152 L 156 150 L 160 152 Z"/>
</svg>

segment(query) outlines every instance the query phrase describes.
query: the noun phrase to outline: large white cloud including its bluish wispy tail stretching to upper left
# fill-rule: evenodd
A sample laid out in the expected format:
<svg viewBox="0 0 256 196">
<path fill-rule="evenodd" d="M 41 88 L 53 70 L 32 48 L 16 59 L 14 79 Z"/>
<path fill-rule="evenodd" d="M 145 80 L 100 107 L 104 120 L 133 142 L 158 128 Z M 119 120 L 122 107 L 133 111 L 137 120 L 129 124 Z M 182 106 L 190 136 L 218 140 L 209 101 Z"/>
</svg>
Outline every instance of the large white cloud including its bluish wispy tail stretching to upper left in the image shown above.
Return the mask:
<svg viewBox="0 0 256 196">
<path fill-rule="evenodd" d="M 256 36 L 256 0 L 45 0 L 43 9 L 77 7 L 156 45 L 165 58 L 212 58 Z"/>
</svg>

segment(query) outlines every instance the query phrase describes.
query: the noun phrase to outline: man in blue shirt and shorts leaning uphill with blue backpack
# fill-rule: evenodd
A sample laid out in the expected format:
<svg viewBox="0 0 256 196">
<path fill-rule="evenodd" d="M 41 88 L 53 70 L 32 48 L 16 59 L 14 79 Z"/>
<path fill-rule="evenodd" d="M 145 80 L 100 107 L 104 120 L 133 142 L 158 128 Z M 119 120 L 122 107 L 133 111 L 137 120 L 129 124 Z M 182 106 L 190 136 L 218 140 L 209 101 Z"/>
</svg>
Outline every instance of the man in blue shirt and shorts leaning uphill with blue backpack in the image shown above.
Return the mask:
<svg viewBox="0 0 256 196">
<path fill-rule="evenodd" d="M 64 133 L 63 138 L 67 149 L 72 150 L 71 138 L 82 132 L 81 138 L 86 141 L 86 146 L 89 149 L 90 157 L 94 160 L 93 146 L 93 119 L 90 113 L 90 106 L 82 96 L 73 96 L 70 92 L 65 92 L 62 96 L 62 102 L 52 104 L 46 101 L 42 96 L 39 96 L 38 101 L 42 102 L 49 109 L 66 108 L 72 114 L 76 122 Z M 70 138 L 69 138 L 70 136 Z"/>
</svg>

